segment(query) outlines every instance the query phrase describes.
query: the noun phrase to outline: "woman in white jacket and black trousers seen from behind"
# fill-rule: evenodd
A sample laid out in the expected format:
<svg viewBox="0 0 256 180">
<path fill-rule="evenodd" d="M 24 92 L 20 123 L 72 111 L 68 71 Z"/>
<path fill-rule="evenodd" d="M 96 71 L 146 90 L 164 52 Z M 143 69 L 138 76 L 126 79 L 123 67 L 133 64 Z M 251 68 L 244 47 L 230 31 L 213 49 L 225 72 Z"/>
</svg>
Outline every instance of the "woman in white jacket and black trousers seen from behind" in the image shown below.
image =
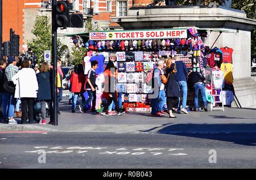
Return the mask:
<svg viewBox="0 0 256 180">
<path fill-rule="evenodd" d="M 20 98 L 22 102 L 21 123 L 26 123 L 28 115 L 28 120 L 31 124 L 33 123 L 34 102 L 37 97 L 38 81 L 36 80 L 35 71 L 29 68 L 30 64 L 27 60 L 24 60 L 21 66 L 22 70 L 15 74 L 11 80 L 16 84 L 15 98 Z"/>
</svg>

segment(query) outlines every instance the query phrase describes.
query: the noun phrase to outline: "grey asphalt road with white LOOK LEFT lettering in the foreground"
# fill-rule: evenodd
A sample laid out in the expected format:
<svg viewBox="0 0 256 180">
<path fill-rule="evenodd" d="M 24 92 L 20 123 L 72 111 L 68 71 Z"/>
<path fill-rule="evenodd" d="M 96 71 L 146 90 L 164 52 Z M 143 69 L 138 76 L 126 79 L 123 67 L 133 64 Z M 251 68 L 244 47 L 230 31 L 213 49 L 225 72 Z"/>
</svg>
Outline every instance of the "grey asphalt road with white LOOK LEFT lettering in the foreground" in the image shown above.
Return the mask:
<svg viewBox="0 0 256 180">
<path fill-rule="evenodd" d="M 255 145 L 255 132 L 6 132 L 0 168 L 256 168 Z"/>
</svg>

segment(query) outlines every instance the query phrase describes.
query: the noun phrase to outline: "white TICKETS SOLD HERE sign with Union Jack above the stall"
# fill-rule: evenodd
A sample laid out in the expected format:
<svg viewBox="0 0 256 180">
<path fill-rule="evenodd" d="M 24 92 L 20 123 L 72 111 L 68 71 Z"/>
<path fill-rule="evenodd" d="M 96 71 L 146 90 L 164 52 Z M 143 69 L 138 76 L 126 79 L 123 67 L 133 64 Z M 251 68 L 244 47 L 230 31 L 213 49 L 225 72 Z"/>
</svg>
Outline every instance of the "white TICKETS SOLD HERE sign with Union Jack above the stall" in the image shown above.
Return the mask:
<svg viewBox="0 0 256 180">
<path fill-rule="evenodd" d="M 90 32 L 90 40 L 143 40 L 165 38 L 187 38 L 187 29 Z"/>
</svg>

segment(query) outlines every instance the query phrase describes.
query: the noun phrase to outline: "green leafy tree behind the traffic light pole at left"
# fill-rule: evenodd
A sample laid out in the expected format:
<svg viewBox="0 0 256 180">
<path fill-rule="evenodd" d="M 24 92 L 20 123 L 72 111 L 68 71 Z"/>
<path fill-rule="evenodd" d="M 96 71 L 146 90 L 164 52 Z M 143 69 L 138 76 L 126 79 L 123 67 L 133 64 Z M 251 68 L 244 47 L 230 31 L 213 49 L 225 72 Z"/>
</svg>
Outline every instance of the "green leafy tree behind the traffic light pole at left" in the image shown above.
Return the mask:
<svg viewBox="0 0 256 180">
<path fill-rule="evenodd" d="M 44 50 L 52 49 L 52 27 L 47 16 L 36 16 L 35 25 L 31 31 L 35 38 L 27 42 L 28 48 L 31 48 L 38 57 L 39 63 L 44 62 Z M 57 39 L 57 55 L 61 57 L 65 53 L 67 46 L 63 45 Z"/>
</svg>

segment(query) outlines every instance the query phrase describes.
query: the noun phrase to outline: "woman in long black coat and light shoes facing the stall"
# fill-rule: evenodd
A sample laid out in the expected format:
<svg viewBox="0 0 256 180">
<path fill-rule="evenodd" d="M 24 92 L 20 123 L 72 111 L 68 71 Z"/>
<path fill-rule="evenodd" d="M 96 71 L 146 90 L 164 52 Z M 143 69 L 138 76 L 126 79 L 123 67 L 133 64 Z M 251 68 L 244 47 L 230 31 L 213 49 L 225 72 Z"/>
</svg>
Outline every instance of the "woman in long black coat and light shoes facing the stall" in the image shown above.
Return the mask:
<svg viewBox="0 0 256 180">
<path fill-rule="evenodd" d="M 180 97 L 179 84 L 177 83 L 175 72 L 177 72 L 175 62 L 172 59 L 168 59 L 166 63 L 166 76 L 168 77 L 166 83 L 166 97 L 170 118 L 176 118 L 176 116 L 172 114 L 172 108 L 177 108 Z"/>
</svg>

